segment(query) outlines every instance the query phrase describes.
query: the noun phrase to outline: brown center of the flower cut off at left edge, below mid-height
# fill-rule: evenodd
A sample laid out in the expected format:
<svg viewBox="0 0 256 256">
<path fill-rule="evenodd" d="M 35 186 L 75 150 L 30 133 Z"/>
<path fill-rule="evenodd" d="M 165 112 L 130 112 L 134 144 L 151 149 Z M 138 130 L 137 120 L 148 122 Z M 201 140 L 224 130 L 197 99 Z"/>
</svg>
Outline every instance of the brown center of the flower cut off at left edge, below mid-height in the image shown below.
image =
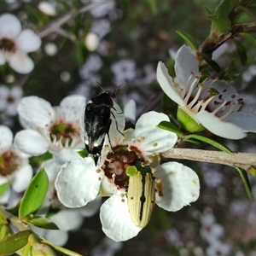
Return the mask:
<svg viewBox="0 0 256 256">
<path fill-rule="evenodd" d="M 20 157 L 13 151 L 6 151 L 0 155 L 0 175 L 3 177 L 14 173 L 20 166 Z"/>
</svg>

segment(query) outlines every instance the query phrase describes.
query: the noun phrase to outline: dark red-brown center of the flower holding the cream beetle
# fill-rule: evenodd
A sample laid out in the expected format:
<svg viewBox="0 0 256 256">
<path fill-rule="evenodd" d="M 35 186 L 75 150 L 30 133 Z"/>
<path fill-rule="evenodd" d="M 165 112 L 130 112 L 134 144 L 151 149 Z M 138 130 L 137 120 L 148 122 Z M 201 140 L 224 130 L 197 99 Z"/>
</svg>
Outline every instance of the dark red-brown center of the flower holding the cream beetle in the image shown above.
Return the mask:
<svg viewBox="0 0 256 256">
<path fill-rule="evenodd" d="M 141 151 L 131 146 L 116 146 L 112 148 L 112 152 L 108 154 L 104 163 L 103 170 L 109 179 L 113 179 L 119 188 L 127 189 L 129 176 L 126 175 L 126 169 L 134 166 L 137 161 L 144 162 Z"/>
</svg>

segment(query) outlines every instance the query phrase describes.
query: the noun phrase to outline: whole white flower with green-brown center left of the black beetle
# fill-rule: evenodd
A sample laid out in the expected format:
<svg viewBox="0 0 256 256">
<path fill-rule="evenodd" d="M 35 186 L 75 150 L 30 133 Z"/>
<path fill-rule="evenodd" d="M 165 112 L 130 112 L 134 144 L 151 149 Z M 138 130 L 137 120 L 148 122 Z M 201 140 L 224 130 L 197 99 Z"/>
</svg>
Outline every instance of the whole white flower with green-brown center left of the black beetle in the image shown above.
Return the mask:
<svg viewBox="0 0 256 256">
<path fill-rule="evenodd" d="M 61 163 L 66 161 L 66 154 L 75 157 L 75 151 L 84 148 L 79 126 L 84 106 L 84 96 L 67 96 L 55 108 L 38 96 L 24 97 L 18 113 L 26 130 L 16 134 L 15 146 L 30 155 L 49 150 Z"/>
</svg>

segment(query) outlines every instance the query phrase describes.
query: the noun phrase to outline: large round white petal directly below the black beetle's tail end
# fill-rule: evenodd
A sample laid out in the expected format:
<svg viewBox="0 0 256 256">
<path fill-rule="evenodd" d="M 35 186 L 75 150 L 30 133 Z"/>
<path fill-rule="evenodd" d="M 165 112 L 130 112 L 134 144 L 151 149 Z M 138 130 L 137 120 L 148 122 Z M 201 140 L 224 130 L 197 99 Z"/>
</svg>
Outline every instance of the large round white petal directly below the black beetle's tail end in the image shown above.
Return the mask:
<svg viewBox="0 0 256 256">
<path fill-rule="evenodd" d="M 102 172 L 96 172 L 92 158 L 71 160 L 61 166 L 55 189 L 64 206 L 83 207 L 98 195 L 101 179 Z"/>
</svg>

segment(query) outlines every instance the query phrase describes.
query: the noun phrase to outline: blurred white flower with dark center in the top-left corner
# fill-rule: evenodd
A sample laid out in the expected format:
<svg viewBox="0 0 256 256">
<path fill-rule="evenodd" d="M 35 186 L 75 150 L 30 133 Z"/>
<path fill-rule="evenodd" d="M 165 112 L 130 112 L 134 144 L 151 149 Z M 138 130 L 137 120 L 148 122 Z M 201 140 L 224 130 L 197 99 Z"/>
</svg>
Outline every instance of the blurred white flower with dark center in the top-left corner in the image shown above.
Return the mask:
<svg viewBox="0 0 256 256">
<path fill-rule="evenodd" d="M 31 29 L 21 30 L 20 20 L 15 15 L 0 17 L 0 65 L 9 62 L 17 73 L 30 73 L 34 67 L 27 53 L 41 46 L 41 38 Z"/>
</svg>

